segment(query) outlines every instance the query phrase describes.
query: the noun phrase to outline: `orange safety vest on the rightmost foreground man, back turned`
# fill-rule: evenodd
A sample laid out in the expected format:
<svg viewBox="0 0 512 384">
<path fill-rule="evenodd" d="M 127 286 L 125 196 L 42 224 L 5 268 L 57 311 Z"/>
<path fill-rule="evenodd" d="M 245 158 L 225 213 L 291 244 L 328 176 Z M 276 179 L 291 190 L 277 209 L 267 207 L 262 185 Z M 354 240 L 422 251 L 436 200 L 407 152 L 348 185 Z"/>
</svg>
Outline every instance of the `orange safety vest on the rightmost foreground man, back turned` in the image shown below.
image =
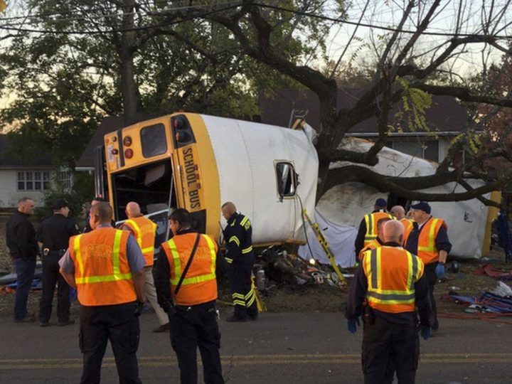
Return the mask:
<svg viewBox="0 0 512 384">
<path fill-rule="evenodd" d="M 368 305 L 392 314 L 415 311 L 415 282 L 424 267 L 419 257 L 402 247 L 383 245 L 366 251 L 363 270 L 368 279 Z"/>
</svg>

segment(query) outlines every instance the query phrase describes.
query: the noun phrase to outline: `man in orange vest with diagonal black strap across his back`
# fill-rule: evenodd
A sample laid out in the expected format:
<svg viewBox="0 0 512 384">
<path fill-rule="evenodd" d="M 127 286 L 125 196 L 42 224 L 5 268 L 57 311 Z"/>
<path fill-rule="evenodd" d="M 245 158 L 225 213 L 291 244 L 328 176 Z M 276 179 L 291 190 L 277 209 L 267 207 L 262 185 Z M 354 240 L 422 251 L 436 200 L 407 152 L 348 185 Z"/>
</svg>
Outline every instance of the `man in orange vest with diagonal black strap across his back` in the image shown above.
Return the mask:
<svg viewBox="0 0 512 384">
<path fill-rule="evenodd" d="M 169 216 L 173 233 L 156 262 L 155 285 L 159 303 L 169 314 L 171 346 L 178 358 L 181 383 L 198 380 L 196 350 L 201 352 L 204 382 L 223 384 L 220 366 L 216 262 L 218 246 L 208 235 L 191 228 L 188 210 Z"/>
</svg>

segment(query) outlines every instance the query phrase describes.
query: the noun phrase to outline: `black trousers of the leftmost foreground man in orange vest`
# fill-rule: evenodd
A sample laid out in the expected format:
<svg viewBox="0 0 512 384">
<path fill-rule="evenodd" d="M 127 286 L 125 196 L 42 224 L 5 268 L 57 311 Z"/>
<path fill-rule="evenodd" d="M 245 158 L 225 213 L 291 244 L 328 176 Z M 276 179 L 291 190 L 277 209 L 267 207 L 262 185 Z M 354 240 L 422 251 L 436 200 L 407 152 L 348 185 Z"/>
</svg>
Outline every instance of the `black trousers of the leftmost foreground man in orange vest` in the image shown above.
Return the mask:
<svg viewBox="0 0 512 384">
<path fill-rule="evenodd" d="M 80 384 L 100 383 L 108 340 L 112 344 L 119 383 L 141 383 L 136 355 L 139 319 L 135 316 L 135 309 L 135 303 L 80 308 L 80 350 L 83 353 Z"/>
</svg>

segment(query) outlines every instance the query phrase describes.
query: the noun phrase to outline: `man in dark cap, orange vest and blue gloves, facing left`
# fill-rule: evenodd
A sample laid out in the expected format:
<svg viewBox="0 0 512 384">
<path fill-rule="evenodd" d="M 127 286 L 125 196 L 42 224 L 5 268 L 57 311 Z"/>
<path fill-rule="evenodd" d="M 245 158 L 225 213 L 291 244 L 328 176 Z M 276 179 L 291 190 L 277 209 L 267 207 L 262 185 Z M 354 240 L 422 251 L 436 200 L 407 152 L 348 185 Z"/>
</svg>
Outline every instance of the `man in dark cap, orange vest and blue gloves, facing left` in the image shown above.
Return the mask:
<svg viewBox="0 0 512 384">
<path fill-rule="evenodd" d="M 452 250 L 452 244 L 448 238 L 448 227 L 444 220 L 433 218 L 430 213 L 429 203 L 420 201 L 411 206 L 412 216 L 415 223 L 409 234 L 406 233 L 404 244 L 405 249 L 415 255 L 418 255 L 425 263 L 425 276 L 429 289 L 432 309 L 434 311 L 434 324 L 432 330 L 439 329 L 437 321 L 437 309 L 434 299 L 434 285 L 437 279 L 444 277 L 444 264 L 446 263 L 448 253 Z"/>
</svg>

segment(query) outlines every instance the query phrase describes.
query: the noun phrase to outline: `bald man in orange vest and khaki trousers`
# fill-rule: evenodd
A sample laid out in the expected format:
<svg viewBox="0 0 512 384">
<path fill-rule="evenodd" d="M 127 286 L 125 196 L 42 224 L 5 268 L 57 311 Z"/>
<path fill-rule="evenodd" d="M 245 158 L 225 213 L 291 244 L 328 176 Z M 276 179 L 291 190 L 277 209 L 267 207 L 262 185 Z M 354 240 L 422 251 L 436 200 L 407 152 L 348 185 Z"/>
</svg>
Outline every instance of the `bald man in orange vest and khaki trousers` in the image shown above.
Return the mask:
<svg viewBox="0 0 512 384">
<path fill-rule="evenodd" d="M 167 316 L 164 309 L 161 309 L 161 306 L 158 304 L 153 279 L 156 224 L 142 215 L 139 204 L 134 201 L 127 203 L 125 212 L 128 220 L 123 223 L 121 229 L 129 230 L 130 233 L 134 235 L 137 244 L 139 244 L 142 250 L 142 255 L 144 255 L 144 259 L 146 260 L 146 266 L 144 267 L 144 274 L 146 275 L 144 292 L 146 292 L 146 299 L 151 303 L 151 307 L 155 311 L 156 317 L 158 317 L 160 323 L 153 331 L 167 332 L 170 328 L 169 316 Z"/>
</svg>

